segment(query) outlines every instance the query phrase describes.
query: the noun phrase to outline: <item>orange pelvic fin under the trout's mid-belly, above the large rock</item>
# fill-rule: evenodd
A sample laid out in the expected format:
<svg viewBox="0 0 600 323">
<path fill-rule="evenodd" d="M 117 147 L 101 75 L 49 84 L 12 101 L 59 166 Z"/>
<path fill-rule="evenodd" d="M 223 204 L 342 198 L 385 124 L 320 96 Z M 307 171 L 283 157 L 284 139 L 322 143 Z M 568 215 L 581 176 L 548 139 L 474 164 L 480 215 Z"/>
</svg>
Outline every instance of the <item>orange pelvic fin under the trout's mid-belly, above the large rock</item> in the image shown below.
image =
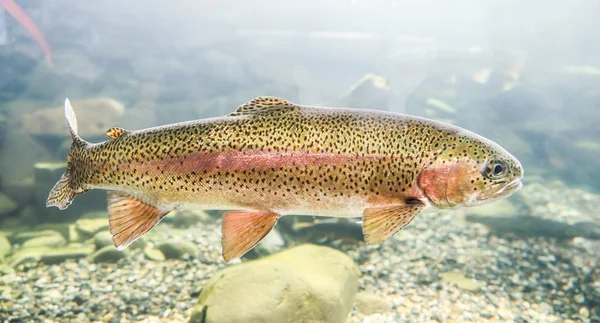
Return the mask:
<svg viewBox="0 0 600 323">
<path fill-rule="evenodd" d="M 270 211 L 230 211 L 223 216 L 221 245 L 226 263 L 240 258 L 275 226 L 279 214 Z"/>
</svg>

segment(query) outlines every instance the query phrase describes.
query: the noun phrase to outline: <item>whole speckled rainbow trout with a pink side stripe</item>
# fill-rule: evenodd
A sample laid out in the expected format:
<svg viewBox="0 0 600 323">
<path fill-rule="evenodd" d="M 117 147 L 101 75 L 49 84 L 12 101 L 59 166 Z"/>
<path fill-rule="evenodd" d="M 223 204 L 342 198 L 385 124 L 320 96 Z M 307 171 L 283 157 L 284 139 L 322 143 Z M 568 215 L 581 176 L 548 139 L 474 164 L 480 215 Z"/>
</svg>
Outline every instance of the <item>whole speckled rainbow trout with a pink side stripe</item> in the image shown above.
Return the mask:
<svg viewBox="0 0 600 323">
<path fill-rule="evenodd" d="M 521 188 L 523 169 L 498 144 L 462 128 L 373 110 L 300 106 L 259 97 L 219 118 L 144 130 L 111 128 L 110 138 L 73 139 L 67 170 L 47 206 L 108 190 L 110 233 L 121 250 L 170 211 L 228 210 L 225 262 L 261 241 L 288 214 L 362 217 L 380 243 L 428 207 L 472 206 Z"/>
</svg>

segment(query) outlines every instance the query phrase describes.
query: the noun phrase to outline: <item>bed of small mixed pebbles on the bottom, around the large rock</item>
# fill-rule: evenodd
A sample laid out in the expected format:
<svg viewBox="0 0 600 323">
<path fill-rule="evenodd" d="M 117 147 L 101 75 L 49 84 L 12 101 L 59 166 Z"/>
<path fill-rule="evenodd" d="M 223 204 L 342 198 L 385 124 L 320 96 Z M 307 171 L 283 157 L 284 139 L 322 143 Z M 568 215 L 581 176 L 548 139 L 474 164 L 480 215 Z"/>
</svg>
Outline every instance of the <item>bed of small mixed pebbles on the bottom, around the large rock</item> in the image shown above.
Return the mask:
<svg viewBox="0 0 600 323">
<path fill-rule="evenodd" d="M 525 201 L 519 207 L 531 215 L 600 222 L 595 211 L 600 196 L 557 183 L 521 195 L 515 200 Z M 382 245 L 340 247 L 360 266 L 359 289 L 391 305 L 371 315 L 355 310 L 349 322 L 600 322 L 600 241 L 498 237 L 483 225 L 461 221 L 463 214 L 421 214 Z M 200 250 L 196 257 L 152 261 L 137 249 L 114 264 L 86 258 L 5 270 L 0 317 L 7 322 L 186 322 L 203 284 L 226 266 L 219 225 L 176 230 L 161 224 L 148 235 L 155 246 L 173 237 L 192 241 Z M 443 279 L 445 272 L 481 288 L 465 289 Z"/>
</svg>

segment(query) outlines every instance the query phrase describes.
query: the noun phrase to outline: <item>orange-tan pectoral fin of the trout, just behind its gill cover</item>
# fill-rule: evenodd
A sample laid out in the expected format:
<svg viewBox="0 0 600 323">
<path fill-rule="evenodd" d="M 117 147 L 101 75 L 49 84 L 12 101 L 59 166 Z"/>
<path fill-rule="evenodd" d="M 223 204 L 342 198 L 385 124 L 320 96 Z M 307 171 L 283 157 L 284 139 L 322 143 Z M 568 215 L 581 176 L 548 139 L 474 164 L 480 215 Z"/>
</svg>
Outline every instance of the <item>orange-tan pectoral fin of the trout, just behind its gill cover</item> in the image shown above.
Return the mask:
<svg viewBox="0 0 600 323">
<path fill-rule="evenodd" d="M 369 208 L 363 212 L 363 235 L 367 244 L 378 244 L 405 227 L 425 207 L 421 202 Z"/>
</svg>

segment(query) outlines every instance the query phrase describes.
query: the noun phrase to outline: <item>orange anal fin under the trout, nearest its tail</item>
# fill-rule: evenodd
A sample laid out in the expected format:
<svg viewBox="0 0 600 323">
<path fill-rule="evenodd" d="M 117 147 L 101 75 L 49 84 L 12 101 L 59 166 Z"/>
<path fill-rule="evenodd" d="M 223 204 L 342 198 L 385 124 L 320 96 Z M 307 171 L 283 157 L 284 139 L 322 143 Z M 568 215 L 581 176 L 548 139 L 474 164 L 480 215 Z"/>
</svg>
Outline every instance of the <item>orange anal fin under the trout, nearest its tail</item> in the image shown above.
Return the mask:
<svg viewBox="0 0 600 323">
<path fill-rule="evenodd" d="M 118 250 L 152 230 L 167 213 L 125 193 L 108 193 L 110 234 Z"/>
</svg>

